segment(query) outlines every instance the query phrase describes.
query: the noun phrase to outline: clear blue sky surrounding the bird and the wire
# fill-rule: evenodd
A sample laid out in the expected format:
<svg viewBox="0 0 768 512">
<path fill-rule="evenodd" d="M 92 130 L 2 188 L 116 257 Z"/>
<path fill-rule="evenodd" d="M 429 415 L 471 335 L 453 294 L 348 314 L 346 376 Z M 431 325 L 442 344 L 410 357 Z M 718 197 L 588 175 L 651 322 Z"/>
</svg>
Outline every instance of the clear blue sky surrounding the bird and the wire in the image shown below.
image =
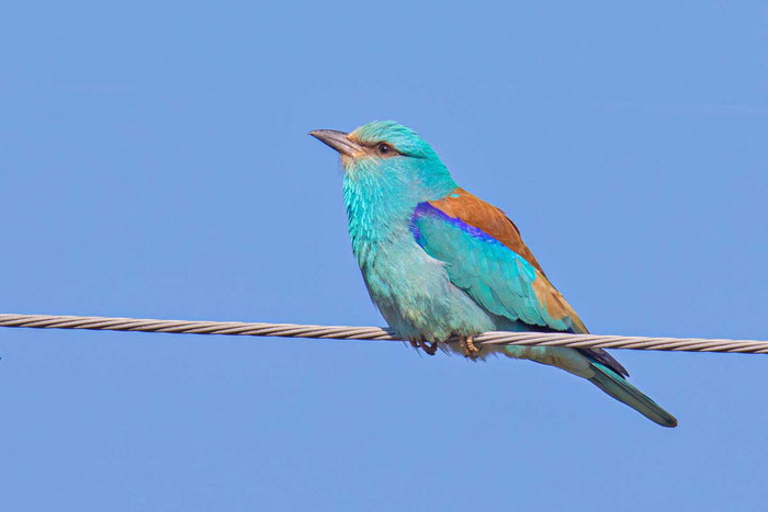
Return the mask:
<svg viewBox="0 0 768 512">
<path fill-rule="evenodd" d="M 306 134 L 394 118 L 594 332 L 768 339 L 765 2 L 45 3 L 0 21 L 2 312 L 382 325 Z M 765 505 L 766 356 L 614 352 L 666 430 L 398 343 L 0 329 L 0 355 L 5 510 Z"/>
</svg>

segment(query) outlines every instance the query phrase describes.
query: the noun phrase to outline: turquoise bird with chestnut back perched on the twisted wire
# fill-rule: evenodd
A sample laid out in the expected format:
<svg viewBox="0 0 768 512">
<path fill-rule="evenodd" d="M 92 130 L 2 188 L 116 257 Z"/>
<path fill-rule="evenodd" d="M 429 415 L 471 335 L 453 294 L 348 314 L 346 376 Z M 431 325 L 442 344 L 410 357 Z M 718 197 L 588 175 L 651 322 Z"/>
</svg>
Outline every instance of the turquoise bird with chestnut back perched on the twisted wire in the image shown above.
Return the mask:
<svg viewBox="0 0 768 512">
<path fill-rule="evenodd" d="M 340 156 L 352 252 L 398 338 L 430 355 L 439 348 L 471 360 L 494 354 L 556 366 L 657 424 L 677 426 L 602 349 L 474 343 L 485 331 L 589 331 L 515 223 L 460 187 L 415 130 L 374 121 L 309 135 Z"/>
</svg>

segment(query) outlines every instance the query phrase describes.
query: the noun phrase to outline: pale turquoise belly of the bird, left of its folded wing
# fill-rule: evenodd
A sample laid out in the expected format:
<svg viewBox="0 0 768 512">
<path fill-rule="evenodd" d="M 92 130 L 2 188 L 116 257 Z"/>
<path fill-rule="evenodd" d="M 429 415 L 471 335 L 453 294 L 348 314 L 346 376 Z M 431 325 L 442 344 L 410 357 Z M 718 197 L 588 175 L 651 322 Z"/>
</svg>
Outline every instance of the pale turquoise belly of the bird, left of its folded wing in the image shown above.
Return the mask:
<svg viewBox="0 0 768 512">
<path fill-rule="evenodd" d="M 404 339 L 443 341 L 495 328 L 486 310 L 450 282 L 444 263 L 415 242 L 377 248 L 361 270 L 372 300 Z"/>
</svg>

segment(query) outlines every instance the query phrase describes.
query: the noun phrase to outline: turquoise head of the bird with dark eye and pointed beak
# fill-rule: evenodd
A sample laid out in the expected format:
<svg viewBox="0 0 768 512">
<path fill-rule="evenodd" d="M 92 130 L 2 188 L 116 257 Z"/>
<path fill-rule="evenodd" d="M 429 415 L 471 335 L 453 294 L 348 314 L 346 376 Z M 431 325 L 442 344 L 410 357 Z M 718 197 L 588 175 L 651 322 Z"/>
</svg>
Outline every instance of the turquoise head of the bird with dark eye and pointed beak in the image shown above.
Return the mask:
<svg viewBox="0 0 768 512">
<path fill-rule="evenodd" d="M 394 121 L 374 121 L 351 133 L 316 129 L 309 135 L 339 151 L 346 183 L 369 193 L 421 202 L 456 187 L 432 148 Z"/>
</svg>

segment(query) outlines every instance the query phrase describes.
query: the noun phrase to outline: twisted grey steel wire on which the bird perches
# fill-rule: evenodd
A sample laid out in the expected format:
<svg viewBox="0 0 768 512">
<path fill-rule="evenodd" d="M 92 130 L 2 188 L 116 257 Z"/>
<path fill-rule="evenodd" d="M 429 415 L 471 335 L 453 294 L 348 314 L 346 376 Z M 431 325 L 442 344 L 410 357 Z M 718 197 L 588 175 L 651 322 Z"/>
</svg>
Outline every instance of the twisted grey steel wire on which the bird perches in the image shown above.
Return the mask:
<svg viewBox="0 0 768 512">
<path fill-rule="evenodd" d="M 146 318 L 74 317 L 0 314 L 0 327 L 39 329 L 88 329 L 103 331 L 171 332 L 177 334 L 225 334 L 324 340 L 402 341 L 380 327 L 303 326 L 224 321 L 156 320 Z M 451 341 L 451 340 L 449 340 Z M 768 341 L 703 338 L 648 338 L 571 334 L 566 332 L 484 332 L 475 344 L 512 344 L 601 349 L 659 350 L 674 352 L 735 352 L 768 354 Z"/>
</svg>

